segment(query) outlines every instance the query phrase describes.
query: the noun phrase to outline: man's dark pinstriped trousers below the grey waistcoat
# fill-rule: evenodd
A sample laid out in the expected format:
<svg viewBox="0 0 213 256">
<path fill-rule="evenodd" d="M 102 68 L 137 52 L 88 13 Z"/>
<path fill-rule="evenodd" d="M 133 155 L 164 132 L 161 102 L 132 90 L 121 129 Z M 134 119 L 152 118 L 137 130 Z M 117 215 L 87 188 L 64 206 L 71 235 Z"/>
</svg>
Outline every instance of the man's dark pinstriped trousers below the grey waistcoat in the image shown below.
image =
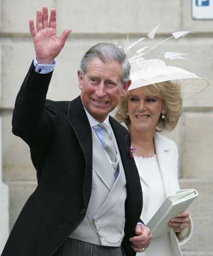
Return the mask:
<svg viewBox="0 0 213 256">
<path fill-rule="evenodd" d="M 125 256 L 121 247 L 98 246 L 68 238 L 52 256 Z"/>
</svg>

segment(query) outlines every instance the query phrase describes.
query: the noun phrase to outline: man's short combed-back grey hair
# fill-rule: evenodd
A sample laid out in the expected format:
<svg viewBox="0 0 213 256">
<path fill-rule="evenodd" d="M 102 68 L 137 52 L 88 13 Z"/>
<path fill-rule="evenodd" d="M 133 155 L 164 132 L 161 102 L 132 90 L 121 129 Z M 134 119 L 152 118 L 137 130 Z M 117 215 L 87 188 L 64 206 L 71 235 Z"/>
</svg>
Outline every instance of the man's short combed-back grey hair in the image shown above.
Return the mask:
<svg viewBox="0 0 213 256">
<path fill-rule="evenodd" d="M 116 60 L 121 65 L 121 80 L 125 84 L 130 79 L 130 62 L 122 48 L 119 48 L 113 43 L 97 43 L 92 46 L 83 56 L 80 63 L 80 71 L 84 76 L 88 63 L 94 58 L 99 58 L 103 63 Z"/>
</svg>

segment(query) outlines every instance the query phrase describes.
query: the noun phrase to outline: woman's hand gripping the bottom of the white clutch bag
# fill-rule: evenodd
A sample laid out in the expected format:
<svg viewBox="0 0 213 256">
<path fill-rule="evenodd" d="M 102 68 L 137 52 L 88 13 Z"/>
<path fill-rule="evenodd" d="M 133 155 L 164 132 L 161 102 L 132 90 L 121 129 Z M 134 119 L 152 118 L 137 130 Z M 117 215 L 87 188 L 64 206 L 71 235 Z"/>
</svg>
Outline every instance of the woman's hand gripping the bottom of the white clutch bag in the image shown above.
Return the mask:
<svg viewBox="0 0 213 256">
<path fill-rule="evenodd" d="M 170 219 L 168 223 L 169 227 L 172 227 L 175 232 L 181 232 L 189 226 L 189 212 L 185 211 L 173 219 Z"/>
</svg>

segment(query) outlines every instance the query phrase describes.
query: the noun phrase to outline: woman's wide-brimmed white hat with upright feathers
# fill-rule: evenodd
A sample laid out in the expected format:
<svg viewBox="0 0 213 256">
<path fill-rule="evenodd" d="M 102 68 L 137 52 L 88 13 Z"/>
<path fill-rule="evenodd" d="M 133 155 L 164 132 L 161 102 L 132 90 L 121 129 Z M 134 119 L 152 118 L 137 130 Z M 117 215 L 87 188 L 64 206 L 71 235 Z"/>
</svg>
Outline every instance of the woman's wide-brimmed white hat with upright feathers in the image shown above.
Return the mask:
<svg viewBox="0 0 213 256">
<path fill-rule="evenodd" d="M 150 33 L 148 33 L 147 37 L 150 39 L 153 39 L 156 34 L 156 30 L 158 29 L 159 25 L 156 26 Z M 155 44 L 154 46 L 143 46 L 142 48 L 138 49 L 136 51 L 136 54 L 132 55 L 129 58 L 129 62 L 131 64 L 131 86 L 128 90 L 133 90 L 135 88 L 144 87 L 146 85 L 155 85 L 159 82 L 166 82 L 166 81 L 173 81 L 176 80 L 176 82 L 179 82 L 182 87 L 181 90 L 184 94 L 184 99 L 190 98 L 192 96 L 195 96 L 196 94 L 203 91 L 207 86 L 208 82 L 204 79 L 202 79 L 200 76 L 197 76 L 195 73 L 191 73 L 183 68 L 178 68 L 176 66 L 167 66 L 165 61 L 162 59 L 146 59 L 145 55 L 153 51 L 153 49 L 158 48 L 161 44 L 165 43 L 166 41 L 175 38 L 178 39 L 180 37 L 184 37 L 188 34 L 194 34 L 194 32 L 190 31 L 178 31 L 173 32 L 172 35 L 169 38 L 166 38 L 165 40 Z M 139 40 L 135 41 L 134 43 L 130 44 L 128 46 L 128 38 L 127 43 L 125 47 L 125 53 L 127 56 L 130 53 L 130 50 L 135 48 L 136 44 L 139 45 L 139 43 L 144 42 L 146 38 L 140 38 Z M 174 60 L 174 59 L 181 59 L 181 60 L 187 60 L 186 55 L 183 53 L 178 52 L 165 52 L 164 59 L 165 60 Z M 187 90 L 189 88 L 190 84 L 194 83 L 196 80 L 199 80 L 198 83 L 193 88 L 190 88 L 190 90 Z M 189 95 L 187 95 L 189 94 Z"/>
</svg>

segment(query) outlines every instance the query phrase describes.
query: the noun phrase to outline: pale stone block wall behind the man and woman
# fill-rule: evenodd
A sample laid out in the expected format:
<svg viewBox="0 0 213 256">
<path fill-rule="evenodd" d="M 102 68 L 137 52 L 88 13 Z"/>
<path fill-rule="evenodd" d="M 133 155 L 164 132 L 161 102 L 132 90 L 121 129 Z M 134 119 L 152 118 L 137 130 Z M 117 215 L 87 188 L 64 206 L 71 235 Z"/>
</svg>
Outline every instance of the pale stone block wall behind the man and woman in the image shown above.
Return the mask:
<svg viewBox="0 0 213 256">
<path fill-rule="evenodd" d="M 44 4 L 57 7 L 58 34 L 65 28 L 72 29 L 72 35 L 57 57 L 48 93 L 51 99 L 72 99 L 79 94 L 77 69 L 80 58 L 97 42 L 124 45 L 127 34 L 131 42 L 157 24 L 161 26 L 153 43 L 169 37 L 173 31 L 195 32 L 178 41 L 171 40 L 161 48 L 163 53 L 188 53 L 190 62 L 183 61 L 181 66 L 209 81 L 203 93 L 184 101 L 178 126 L 166 136 L 178 144 L 181 187 L 194 187 L 200 193 L 190 207 L 194 236 L 183 246 L 183 254 L 213 255 L 213 21 L 192 20 L 190 0 L 1 0 L 2 179 L 9 185 L 10 229 L 36 187 L 29 148 L 12 135 L 11 119 L 16 94 L 34 57 L 28 20 L 35 18 L 35 10 Z M 173 61 L 173 64 L 178 65 L 178 62 Z"/>
</svg>

